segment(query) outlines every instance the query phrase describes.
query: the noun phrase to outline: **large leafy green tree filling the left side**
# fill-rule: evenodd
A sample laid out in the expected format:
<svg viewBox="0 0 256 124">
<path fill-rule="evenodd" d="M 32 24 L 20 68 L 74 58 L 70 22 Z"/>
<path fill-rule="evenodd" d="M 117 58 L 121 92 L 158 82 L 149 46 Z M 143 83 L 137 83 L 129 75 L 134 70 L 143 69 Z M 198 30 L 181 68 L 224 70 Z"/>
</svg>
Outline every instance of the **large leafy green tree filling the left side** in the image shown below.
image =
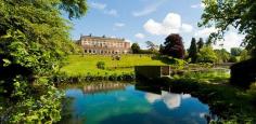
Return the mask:
<svg viewBox="0 0 256 124">
<path fill-rule="evenodd" d="M 61 15 L 63 10 L 71 19 L 78 18 L 86 13 L 87 3 L 0 1 L 0 95 L 9 98 L 9 105 L 0 105 L 0 113 L 9 110 L 4 119 L 9 122 L 3 123 L 55 123 L 61 119 L 60 93 L 51 79 L 75 46 L 69 40 L 68 20 Z"/>
</svg>

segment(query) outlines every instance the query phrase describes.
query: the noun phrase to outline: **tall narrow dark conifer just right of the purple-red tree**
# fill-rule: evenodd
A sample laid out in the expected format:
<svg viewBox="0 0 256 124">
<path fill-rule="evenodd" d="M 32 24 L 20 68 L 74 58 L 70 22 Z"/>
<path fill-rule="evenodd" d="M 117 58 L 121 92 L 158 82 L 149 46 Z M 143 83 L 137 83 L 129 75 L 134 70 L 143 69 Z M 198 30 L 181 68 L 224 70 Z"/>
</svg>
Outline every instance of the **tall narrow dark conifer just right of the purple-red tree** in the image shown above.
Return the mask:
<svg viewBox="0 0 256 124">
<path fill-rule="evenodd" d="M 191 58 L 191 63 L 196 63 L 197 58 L 197 46 L 196 46 L 196 41 L 195 38 L 192 38 L 191 40 L 191 45 L 189 49 L 189 58 Z"/>
</svg>

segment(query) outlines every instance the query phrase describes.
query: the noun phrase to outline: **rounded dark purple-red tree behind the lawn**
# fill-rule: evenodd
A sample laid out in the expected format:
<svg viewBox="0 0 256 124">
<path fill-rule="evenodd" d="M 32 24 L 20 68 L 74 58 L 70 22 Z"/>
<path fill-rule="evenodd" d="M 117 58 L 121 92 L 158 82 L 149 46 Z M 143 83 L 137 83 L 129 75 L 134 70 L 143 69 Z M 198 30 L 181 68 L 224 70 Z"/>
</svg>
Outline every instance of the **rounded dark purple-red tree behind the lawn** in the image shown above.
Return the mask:
<svg viewBox="0 0 256 124">
<path fill-rule="evenodd" d="M 163 54 L 175 58 L 184 58 L 184 46 L 182 38 L 177 33 L 171 33 L 165 39 L 165 49 Z"/>
</svg>

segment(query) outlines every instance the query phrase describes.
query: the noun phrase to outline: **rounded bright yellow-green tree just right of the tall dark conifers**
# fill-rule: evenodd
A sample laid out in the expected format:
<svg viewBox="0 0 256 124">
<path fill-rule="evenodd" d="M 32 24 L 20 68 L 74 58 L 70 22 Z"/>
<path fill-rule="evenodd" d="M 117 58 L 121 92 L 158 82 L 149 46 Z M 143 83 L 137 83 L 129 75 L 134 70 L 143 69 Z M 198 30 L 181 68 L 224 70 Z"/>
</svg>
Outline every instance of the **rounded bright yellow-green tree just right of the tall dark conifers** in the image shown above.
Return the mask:
<svg viewBox="0 0 256 124">
<path fill-rule="evenodd" d="M 217 55 L 215 54 L 213 47 L 210 46 L 204 46 L 199 52 L 197 61 L 199 63 L 216 63 L 217 61 Z"/>
</svg>

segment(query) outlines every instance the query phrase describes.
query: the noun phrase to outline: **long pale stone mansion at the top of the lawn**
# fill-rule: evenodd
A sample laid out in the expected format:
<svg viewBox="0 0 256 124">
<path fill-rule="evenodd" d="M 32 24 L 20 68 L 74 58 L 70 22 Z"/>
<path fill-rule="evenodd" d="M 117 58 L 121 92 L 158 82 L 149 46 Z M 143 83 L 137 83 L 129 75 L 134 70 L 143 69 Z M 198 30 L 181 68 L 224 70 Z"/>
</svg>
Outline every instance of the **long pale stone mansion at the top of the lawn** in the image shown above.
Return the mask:
<svg viewBox="0 0 256 124">
<path fill-rule="evenodd" d="M 87 54 L 128 54 L 130 43 L 125 39 L 81 36 L 78 42 Z"/>
</svg>

